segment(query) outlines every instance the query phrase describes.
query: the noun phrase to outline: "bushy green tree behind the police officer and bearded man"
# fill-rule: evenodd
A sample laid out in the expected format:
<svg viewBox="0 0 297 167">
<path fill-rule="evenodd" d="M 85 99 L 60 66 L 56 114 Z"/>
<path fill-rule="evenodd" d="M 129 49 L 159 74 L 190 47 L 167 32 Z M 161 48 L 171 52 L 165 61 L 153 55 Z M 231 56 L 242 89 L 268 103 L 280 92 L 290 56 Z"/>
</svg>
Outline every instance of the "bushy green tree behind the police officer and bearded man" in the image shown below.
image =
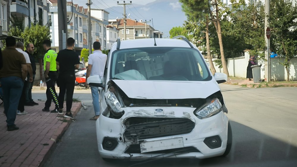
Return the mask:
<svg viewBox="0 0 297 167">
<path fill-rule="evenodd" d="M 31 24 L 31 27 L 26 27 L 21 37 L 24 39 L 24 44 L 33 43 L 34 44 L 34 57 L 42 58 L 44 55 L 44 49 L 42 42 L 45 39 L 50 39 L 50 30 L 48 26 L 41 26 L 39 24 Z"/>
</svg>

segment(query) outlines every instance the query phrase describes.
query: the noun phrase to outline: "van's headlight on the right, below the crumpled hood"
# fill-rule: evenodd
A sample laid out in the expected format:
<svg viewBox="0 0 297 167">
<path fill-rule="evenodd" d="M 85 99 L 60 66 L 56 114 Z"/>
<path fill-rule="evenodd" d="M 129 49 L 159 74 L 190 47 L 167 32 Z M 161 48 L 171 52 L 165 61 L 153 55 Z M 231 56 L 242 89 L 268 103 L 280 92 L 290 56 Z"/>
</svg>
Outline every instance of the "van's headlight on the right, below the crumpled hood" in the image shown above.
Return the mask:
<svg viewBox="0 0 297 167">
<path fill-rule="evenodd" d="M 194 113 L 199 119 L 204 119 L 211 117 L 214 114 L 217 114 L 221 111 L 222 104 L 219 101 L 219 99 L 215 98 L 211 100 L 210 102 L 206 103 L 199 109 L 195 110 Z"/>
</svg>

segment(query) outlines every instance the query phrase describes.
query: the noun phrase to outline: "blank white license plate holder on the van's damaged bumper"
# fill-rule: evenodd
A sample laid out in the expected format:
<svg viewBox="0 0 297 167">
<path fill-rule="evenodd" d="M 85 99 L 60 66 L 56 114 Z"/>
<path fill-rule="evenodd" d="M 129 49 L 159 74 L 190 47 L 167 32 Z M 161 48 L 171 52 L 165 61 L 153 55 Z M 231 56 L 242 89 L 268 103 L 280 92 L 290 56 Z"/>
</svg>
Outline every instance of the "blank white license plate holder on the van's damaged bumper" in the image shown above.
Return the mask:
<svg viewBox="0 0 297 167">
<path fill-rule="evenodd" d="M 144 153 L 182 147 L 184 147 L 184 140 L 182 137 L 155 141 L 144 141 L 140 143 L 140 152 Z"/>
</svg>

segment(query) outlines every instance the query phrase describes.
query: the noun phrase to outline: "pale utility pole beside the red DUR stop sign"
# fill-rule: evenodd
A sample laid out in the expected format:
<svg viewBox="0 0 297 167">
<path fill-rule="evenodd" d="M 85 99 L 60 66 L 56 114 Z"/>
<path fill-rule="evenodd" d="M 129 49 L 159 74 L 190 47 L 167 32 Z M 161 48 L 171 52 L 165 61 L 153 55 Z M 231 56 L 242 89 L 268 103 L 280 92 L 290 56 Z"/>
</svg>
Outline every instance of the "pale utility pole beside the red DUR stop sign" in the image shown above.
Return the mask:
<svg viewBox="0 0 297 167">
<path fill-rule="evenodd" d="M 265 27 L 264 27 L 264 32 L 265 32 L 265 36 L 266 34 L 266 29 L 267 27 L 269 27 L 269 17 L 270 17 L 270 2 L 269 0 L 265 0 Z M 264 38 L 265 38 L 264 36 Z M 265 59 L 267 61 L 265 61 L 265 80 L 267 82 L 270 82 L 270 56 L 269 56 L 269 48 L 270 48 L 270 40 L 265 40 L 266 42 L 266 46 L 267 46 L 267 50 L 265 51 Z"/>
</svg>

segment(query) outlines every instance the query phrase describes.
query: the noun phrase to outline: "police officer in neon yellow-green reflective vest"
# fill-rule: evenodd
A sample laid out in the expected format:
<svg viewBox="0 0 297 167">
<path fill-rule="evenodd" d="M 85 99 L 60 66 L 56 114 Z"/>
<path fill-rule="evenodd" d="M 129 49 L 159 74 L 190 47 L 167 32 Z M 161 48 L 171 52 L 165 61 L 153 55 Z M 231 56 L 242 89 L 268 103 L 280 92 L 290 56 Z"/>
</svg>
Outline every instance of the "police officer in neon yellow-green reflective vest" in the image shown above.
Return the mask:
<svg viewBox="0 0 297 167">
<path fill-rule="evenodd" d="M 46 101 L 45 107 L 42 111 L 49 112 L 50 104 L 52 100 L 55 103 L 55 109 L 50 112 L 58 112 L 59 103 L 58 103 L 58 95 L 55 89 L 55 82 L 58 79 L 57 69 L 59 66 L 56 64 L 57 53 L 50 48 L 50 40 L 46 39 L 43 41 L 43 48 L 45 50 L 45 55 L 43 58 L 44 61 L 44 76 L 46 83 Z"/>
</svg>

